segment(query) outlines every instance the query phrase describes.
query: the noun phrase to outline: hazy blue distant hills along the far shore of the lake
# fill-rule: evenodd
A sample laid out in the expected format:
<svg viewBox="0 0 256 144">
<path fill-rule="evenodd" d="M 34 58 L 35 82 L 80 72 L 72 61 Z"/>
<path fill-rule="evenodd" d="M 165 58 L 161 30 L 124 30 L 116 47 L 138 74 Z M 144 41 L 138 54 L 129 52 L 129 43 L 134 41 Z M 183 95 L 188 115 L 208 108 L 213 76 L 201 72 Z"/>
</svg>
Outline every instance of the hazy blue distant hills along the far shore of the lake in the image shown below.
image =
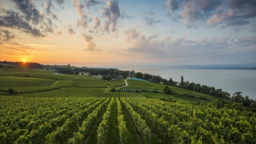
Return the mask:
<svg viewBox="0 0 256 144">
<path fill-rule="evenodd" d="M 227 65 L 177 65 L 170 66 L 170 68 L 181 69 L 256 69 L 256 63 L 241 63 L 241 64 L 227 64 Z"/>
</svg>

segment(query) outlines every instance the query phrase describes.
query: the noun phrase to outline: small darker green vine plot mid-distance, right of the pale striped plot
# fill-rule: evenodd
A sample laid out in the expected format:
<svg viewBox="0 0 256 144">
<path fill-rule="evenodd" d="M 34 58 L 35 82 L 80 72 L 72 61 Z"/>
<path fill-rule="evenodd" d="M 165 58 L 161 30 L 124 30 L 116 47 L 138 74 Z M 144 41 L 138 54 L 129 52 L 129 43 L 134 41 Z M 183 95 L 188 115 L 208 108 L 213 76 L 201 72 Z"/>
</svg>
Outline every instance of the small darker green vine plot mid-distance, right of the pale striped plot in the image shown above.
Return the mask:
<svg viewBox="0 0 256 144">
<path fill-rule="evenodd" d="M 72 80 L 75 87 L 107 88 L 104 80 Z"/>
</svg>

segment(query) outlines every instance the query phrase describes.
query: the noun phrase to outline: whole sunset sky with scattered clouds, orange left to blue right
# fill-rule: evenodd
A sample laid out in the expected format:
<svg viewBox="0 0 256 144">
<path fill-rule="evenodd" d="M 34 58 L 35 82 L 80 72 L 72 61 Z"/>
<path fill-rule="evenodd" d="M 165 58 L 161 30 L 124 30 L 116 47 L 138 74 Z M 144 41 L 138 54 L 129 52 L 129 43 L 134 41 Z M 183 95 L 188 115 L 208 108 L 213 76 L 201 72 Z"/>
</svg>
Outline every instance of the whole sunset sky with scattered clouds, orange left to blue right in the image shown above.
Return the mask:
<svg viewBox="0 0 256 144">
<path fill-rule="evenodd" d="M 0 61 L 77 67 L 256 62 L 255 0 L 1 0 Z"/>
</svg>

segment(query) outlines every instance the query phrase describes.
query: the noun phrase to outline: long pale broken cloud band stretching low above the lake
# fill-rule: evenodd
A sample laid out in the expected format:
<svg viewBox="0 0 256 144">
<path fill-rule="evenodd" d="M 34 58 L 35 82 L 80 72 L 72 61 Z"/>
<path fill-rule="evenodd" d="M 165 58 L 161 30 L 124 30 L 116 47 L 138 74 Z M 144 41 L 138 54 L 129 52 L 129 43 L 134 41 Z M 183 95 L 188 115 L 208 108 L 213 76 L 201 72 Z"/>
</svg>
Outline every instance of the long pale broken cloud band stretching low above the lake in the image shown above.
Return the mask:
<svg viewBox="0 0 256 144">
<path fill-rule="evenodd" d="M 255 51 L 256 36 L 242 36 L 236 40 L 230 37 L 213 36 L 188 40 L 181 36 L 175 40 L 158 35 L 146 36 L 136 29 L 125 30 L 125 41 L 130 44 L 128 53 L 140 54 L 146 57 L 157 57 L 158 59 L 183 59 L 191 61 L 233 60 L 234 53 L 247 53 Z M 250 58 L 252 59 L 252 57 Z"/>
</svg>

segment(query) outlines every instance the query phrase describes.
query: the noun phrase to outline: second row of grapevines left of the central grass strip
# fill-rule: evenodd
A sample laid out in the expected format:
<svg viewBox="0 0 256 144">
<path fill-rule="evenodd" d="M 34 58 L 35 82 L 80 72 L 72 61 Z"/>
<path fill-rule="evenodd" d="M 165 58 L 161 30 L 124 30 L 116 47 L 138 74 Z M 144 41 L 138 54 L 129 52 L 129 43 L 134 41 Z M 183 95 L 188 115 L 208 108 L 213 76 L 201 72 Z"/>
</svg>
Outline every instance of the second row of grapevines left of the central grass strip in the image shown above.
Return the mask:
<svg viewBox="0 0 256 144">
<path fill-rule="evenodd" d="M 85 119 L 81 127 L 79 127 L 78 132 L 74 133 L 73 137 L 68 139 L 69 143 L 81 144 L 84 142 L 85 137 L 88 136 L 91 128 L 93 127 L 93 124 L 96 123 L 100 113 L 104 111 L 104 109 L 106 109 L 109 100 L 110 98 L 104 101 L 104 103 L 99 105 L 99 107 L 97 107 L 92 113 L 88 115 L 87 119 Z"/>
</svg>

